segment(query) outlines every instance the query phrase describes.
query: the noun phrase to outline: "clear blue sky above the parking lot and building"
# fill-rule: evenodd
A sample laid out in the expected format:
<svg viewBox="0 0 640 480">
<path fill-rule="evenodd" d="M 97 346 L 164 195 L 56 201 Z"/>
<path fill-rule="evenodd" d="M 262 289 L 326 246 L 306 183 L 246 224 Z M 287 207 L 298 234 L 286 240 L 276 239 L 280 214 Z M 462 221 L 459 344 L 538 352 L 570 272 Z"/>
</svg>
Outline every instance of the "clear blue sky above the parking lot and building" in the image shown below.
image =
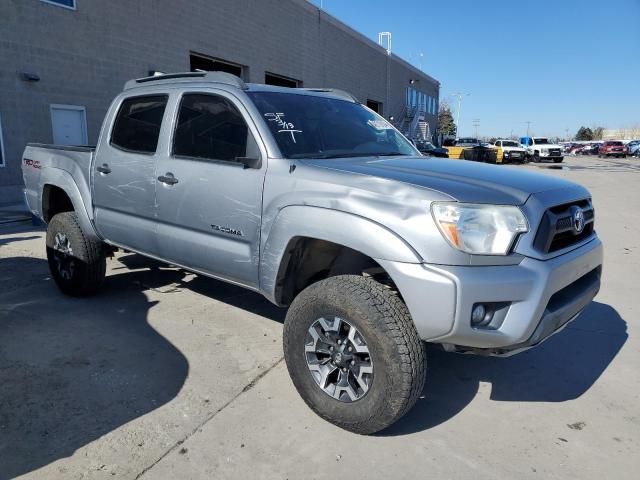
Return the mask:
<svg viewBox="0 0 640 480">
<path fill-rule="evenodd" d="M 313 0 L 320 5 L 320 0 Z M 462 102 L 461 135 L 640 126 L 640 0 L 323 0 Z"/>
</svg>

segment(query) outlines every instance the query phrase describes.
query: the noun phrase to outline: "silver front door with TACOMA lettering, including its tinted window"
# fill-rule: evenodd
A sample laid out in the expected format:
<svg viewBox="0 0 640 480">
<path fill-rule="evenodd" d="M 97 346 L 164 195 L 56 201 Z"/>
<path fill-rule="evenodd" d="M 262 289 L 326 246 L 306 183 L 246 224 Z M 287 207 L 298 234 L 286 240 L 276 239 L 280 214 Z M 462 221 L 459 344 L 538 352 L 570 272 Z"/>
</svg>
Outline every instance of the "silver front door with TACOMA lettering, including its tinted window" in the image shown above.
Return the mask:
<svg viewBox="0 0 640 480">
<path fill-rule="evenodd" d="M 174 125 L 156 166 L 161 257 L 245 286 L 257 286 L 266 159 L 248 112 L 217 89 L 174 101 Z"/>
</svg>

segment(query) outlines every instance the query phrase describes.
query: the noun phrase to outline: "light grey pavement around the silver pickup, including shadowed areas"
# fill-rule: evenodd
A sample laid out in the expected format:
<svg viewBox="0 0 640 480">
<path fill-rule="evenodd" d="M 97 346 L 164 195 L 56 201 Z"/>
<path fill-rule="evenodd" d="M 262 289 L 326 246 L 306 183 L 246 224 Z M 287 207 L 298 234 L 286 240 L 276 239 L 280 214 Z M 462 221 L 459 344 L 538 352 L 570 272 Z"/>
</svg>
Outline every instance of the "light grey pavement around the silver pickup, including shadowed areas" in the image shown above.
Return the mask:
<svg viewBox="0 0 640 480">
<path fill-rule="evenodd" d="M 0 226 L 0 480 L 637 478 L 640 160 L 503 168 L 591 190 L 602 290 L 521 355 L 429 349 L 417 406 L 370 437 L 298 397 L 259 295 L 119 254 L 99 295 L 64 297 L 43 231 Z"/>
</svg>

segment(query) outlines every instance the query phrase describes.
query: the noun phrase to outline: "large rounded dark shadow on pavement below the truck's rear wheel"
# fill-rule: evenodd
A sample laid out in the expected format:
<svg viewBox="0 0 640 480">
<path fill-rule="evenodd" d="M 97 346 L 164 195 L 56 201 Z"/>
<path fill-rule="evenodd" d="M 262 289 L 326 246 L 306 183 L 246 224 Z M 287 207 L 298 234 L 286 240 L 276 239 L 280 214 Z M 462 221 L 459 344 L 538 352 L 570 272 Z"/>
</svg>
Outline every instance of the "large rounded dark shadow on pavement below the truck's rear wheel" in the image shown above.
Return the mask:
<svg viewBox="0 0 640 480">
<path fill-rule="evenodd" d="M 59 293 L 45 260 L 4 258 L 0 272 L 0 480 L 68 457 L 178 395 L 189 364 L 147 322 L 157 302 L 137 283 L 184 272 L 112 273 L 90 299 Z"/>
</svg>

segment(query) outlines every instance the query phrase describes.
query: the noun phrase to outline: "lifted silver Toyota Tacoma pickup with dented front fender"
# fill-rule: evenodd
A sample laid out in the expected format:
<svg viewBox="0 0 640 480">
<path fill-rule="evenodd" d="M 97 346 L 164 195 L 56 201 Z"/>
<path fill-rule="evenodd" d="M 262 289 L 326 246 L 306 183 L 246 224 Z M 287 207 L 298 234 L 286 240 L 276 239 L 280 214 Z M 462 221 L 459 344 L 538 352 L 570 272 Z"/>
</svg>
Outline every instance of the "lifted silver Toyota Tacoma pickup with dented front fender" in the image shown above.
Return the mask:
<svg viewBox="0 0 640 480">
<path fill-rule="evenodd" d="M 600 286 L 583 187 L 427 158 L 346 92 L 188 73 L 132 80 L 97 147 L 29 145 L 26 199 L 70 295 L 138 252 L 288 306 L 284 353 L 320 416 L 372 433 L 424 386 L 424 342 L 509 355 Z"/>
</svg>

